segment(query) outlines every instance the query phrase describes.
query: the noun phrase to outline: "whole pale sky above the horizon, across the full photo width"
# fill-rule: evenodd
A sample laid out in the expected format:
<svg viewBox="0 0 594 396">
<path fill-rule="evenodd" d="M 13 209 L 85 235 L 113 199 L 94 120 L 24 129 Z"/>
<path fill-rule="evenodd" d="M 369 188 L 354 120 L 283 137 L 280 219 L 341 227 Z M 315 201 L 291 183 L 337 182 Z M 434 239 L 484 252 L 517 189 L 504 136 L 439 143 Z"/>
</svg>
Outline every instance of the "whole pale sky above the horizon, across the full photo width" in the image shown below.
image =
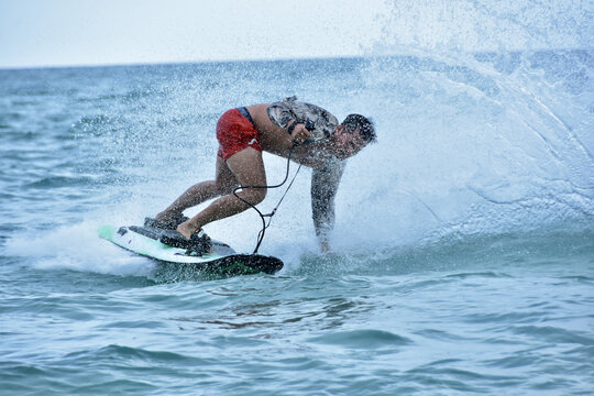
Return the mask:
<svg viewBox="0 0 594 396">
<path fill-rule="evenodd" d="M 594 0 L 0 0 L 0 68 L 592 43 Z"/>
</svg>

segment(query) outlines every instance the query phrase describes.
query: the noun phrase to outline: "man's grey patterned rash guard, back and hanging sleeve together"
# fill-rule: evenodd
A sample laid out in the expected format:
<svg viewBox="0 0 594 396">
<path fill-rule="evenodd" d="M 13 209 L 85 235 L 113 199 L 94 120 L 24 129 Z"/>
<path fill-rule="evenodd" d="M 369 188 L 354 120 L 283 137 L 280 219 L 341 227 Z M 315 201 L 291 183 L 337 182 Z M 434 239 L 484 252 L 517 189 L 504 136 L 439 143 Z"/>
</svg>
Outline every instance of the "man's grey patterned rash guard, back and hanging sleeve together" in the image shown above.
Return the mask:
<svg viewBox="0 0 594 396">
<path fill-rule="evenodd" d="M 305 142 L 312 145 L 329 139 L 339 124 L 338 119 L 327 110 L 297 101 L 295 96 L 272 103 L 267 112 L 271 121 L 283 129 L 287 129 L 292 120 L 302 124 L 308 120 L 312 121 L 316 129 L 311 131 L 312 138 Z M 314 169 L 311 174 L 311 217 L 316 235 L 323 240 L 328 239 L 328 233 L 334 227 L 334 197 L 345 164 L 345 161 L 332 156 L 322 167 Z"/>
</svg>

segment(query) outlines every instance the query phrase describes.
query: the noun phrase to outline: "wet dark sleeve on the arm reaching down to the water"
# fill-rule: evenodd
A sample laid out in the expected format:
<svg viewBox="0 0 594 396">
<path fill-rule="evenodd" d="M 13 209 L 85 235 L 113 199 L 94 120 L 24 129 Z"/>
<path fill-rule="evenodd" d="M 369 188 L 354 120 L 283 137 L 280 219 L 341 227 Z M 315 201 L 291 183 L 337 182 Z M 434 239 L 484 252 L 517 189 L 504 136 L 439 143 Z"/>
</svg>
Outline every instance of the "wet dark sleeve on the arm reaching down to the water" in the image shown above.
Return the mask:
<svg viewBox="0 0 594 396">
<path fill-rule="evenodd" d="M 311 216 L 316 235 L 326 240 L 334 228 L 334 198 L 345 163 L 337 161 L 322 168 L 314 169 L 311 175 Z"/>
</svg>

